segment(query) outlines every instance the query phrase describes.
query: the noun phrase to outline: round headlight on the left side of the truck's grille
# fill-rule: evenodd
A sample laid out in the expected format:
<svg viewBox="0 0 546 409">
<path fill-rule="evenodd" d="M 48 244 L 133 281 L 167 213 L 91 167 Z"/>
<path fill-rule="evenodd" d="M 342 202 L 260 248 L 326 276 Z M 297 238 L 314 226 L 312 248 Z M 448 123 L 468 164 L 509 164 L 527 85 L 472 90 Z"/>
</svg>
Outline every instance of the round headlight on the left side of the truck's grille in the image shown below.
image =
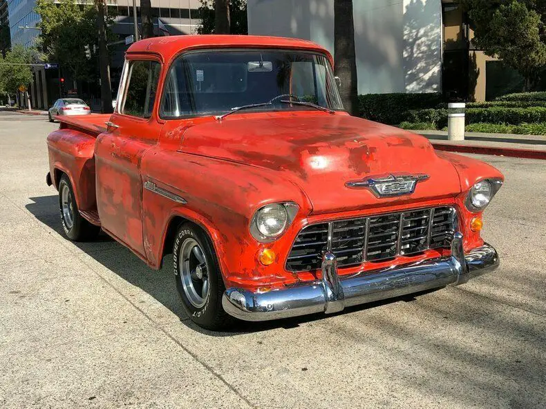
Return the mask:
<svg viewBox="0 0 546 409">
<path fill-rule="evenodd" d="M 279 237 L 290 226 L 298 212 L 296 203 L 273 203 L 262 208 L 252 217 L 250 232 L 254 239 L 267 242 Z"/>
</svg>

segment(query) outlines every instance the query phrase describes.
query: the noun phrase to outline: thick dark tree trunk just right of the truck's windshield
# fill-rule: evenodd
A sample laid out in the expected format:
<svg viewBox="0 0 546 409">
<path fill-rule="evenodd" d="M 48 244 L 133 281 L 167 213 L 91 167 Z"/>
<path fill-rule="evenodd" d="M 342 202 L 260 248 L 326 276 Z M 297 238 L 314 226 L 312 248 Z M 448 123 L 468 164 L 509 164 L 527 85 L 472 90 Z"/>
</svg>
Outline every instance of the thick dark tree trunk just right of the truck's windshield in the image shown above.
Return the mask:
<svg viewBox="0 0 546 409">
<path fill-rule="evenodd" d="M 352 0 L 334 0 L 335 74 L 341 79 L 341 101 L 351 115 L 359 114 L 357 61 L 355 57 L 355 24 Z"/>
</svg>

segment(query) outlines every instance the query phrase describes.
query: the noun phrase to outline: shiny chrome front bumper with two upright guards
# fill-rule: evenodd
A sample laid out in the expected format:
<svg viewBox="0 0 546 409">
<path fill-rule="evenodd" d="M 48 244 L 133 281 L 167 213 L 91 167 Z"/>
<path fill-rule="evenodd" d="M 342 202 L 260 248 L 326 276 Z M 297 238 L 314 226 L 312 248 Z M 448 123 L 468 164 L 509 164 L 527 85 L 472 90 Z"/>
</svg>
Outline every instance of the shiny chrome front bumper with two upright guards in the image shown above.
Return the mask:
<svg viewBox="0 0 546 409">
<path fill-rule="evenodd" d="M 455 233 L 450 257 L 339 277 L 335 255 L 326 252 L 321 280 L 269 292 L 229 288 L 223 295 L 222 305 L 229 315 L 245 321 L 267 321 L 316 312 L 328 314 L 348 306 L 466 283 L 498 265 L 498 254 L 488 244 L 465 255 L 462 235 Z"/>
</svg>

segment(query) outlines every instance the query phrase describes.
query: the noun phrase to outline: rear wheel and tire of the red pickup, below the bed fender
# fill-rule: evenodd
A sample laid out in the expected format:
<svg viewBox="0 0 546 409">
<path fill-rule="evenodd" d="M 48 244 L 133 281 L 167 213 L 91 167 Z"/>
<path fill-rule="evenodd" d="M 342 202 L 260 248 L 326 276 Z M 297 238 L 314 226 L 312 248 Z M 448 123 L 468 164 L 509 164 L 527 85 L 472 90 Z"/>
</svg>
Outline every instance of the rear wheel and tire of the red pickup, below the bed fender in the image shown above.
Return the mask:
<svg viewBox="0 0 546 409">
<path fill-rule="evenodd" d="M 59 211 L 64 234 L 73 241 L 88 241 L 97 237 L 100 227 L 89 223 L 79 214 L 70 179 L 63 174 L 59 181 Z"/>
</svg>

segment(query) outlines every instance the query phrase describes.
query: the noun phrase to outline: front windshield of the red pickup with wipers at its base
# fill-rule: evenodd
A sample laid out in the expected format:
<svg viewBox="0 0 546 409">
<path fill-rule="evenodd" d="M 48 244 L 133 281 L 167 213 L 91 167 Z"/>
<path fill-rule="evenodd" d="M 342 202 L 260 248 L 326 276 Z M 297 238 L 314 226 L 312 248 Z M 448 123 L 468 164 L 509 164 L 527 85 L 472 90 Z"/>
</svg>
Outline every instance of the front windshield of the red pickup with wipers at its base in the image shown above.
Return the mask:
<svg viewBox="0 0 546 409">
<path fill-rule="evenodd" d="M 183 54 L 167 78 L 160 117 L 223 114 L 282 94 L 343 110 L 330 62 L 323 54 L 273 50 L 207 50 Z M 281 103 L 248 110 L 313 110 Z"/>
</svg>

